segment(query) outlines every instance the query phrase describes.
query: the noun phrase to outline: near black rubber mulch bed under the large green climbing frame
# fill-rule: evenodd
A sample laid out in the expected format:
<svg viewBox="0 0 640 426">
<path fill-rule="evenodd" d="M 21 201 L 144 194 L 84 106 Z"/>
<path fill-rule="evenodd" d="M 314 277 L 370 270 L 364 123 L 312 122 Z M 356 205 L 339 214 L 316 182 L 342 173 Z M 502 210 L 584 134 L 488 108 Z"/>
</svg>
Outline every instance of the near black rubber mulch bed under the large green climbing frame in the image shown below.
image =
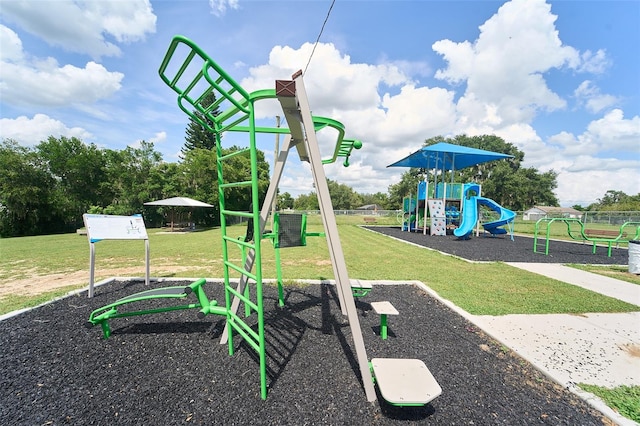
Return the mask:
<svg viewBox="0 0 640 426">
<path fill-rule="evenodd" d="M 207 288 L 220 300 L 220 284 Z M 374 286 L 357 308 L 369 359 L 421 359 L 442 386 L 441 396 L 419 408 L 366 401 L 334 286 L 288 288 L 284 309 L 276 307 L 275 289 L 265 289 L 266 400 L 253 350 L 236 339 L 229 356 L 219 344 L 220 317 L 199 320 L 187 310 L 115 319 L 108 340 L 100 327 L 85 328 L 93 309 L 144 289 L 139 282 L 113 282 L 93 299 L 72 296 L 1 321 L 0 424 L 607 423 L 411 285 Z M 389 318 L 385 341 L 369 305 L 377 300 L 400 312 Z"/>
</svg>

